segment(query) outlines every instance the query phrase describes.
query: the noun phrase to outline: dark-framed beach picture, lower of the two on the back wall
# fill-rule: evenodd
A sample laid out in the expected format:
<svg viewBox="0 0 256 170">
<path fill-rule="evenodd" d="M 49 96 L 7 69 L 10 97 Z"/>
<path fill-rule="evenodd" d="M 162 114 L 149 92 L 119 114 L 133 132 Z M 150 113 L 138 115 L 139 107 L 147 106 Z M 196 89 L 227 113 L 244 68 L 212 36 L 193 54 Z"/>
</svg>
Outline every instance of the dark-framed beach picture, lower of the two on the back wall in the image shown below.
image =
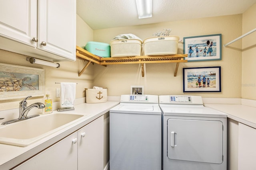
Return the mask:
<svg viewBox="0 0 256 170">
<path fill-rule="evenodd" d="M 221 92 L 220 66 L 183 68 L 183 92 Z"/>
</svg>

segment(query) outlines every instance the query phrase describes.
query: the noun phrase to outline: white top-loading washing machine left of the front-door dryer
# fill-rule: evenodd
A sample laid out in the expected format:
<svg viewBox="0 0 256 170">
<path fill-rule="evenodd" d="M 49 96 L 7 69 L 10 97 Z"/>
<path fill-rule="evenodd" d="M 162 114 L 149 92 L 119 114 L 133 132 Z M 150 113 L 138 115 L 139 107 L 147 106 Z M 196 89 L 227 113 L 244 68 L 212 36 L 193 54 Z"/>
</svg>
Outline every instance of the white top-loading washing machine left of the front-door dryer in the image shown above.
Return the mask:
<svg viewBox="0 0 256 170">
<path fill-rule="evenodd" d="M 162 111 L 156 95 L 122 95 L 110 109 L 110 170 L 162 170 Z"/>
</svg>

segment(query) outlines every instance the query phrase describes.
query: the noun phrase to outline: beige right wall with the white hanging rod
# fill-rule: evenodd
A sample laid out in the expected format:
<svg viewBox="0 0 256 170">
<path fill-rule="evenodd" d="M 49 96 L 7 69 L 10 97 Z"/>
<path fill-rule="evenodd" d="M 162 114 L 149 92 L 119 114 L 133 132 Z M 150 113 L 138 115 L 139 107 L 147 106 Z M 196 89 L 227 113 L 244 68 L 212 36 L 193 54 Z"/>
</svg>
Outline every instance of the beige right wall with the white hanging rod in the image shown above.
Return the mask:
<svg viewBox="0 0 256 170">
<path fill-rule="evenodd" d="M 256 4 L 243 14 L 243 34 L 256 28 Z M 242 98 L 256 100 L 256 31 L 242 39 Z"/>
</svg>

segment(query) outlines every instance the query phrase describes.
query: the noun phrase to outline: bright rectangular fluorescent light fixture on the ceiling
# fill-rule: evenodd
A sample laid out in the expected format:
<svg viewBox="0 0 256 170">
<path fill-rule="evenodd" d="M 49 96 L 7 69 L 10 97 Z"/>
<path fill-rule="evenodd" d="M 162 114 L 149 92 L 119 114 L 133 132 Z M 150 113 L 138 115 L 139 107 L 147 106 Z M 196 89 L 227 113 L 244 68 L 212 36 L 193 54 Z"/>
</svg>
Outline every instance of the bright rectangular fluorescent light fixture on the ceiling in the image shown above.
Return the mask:
<svg viewBox="0 0 256 170">
<path fill-rule="evenodd" d="M 139 18 L 152 17 L 152 0 L 136 0 Z"/>
</svg>

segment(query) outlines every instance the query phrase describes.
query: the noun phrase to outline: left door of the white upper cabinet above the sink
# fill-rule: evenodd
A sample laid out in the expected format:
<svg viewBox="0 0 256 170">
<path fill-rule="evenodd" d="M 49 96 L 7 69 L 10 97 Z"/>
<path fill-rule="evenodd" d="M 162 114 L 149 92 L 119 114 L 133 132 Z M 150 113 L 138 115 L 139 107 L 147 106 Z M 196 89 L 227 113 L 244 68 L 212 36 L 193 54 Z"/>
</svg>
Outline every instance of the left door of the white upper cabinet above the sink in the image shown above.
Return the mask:
<svg viewBox="0 0 256 170">
<path fill-rule="evenodd" d="M 36 0 L 7 0 L 0 5 L 0 36 L 36 47 Z"/>
</svg>

